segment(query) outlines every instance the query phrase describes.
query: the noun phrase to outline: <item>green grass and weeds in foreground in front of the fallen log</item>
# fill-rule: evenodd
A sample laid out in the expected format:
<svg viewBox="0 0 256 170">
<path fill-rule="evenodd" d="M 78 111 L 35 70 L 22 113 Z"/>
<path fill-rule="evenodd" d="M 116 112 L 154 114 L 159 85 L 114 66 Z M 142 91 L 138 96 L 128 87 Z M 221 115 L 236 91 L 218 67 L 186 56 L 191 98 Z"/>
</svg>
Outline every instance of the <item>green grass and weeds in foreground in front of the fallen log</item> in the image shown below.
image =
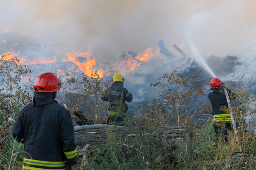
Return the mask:
<svg viewBox="0 0 256 170">
<path fill-rule="evenodd" d="M 194 138 L 191 139 L 187 135 L 184 142 L 176 139 L 166 141 L 161 136 L 158 136 L 161 140 L 156 141 L 152 135 L 154 132 L 150 128 L 141 126 L 133 127 L 131 131 L 136 136 L 132 138 L 132 142 L 128 142 L 129 138 L 125 135 L 113 134 L 110 130 L 107 133 L 106 145 L 91 147 L 86 152 L 81 169 L 256 168 L 256 162 L 253 159 L 256 140 L 252 134 L 243 136 L 244 139 L 251 141 L 250 145 L 247 145 L 232 140 L 231 132 L 230 142 L 227 144 L 223 137 L 217 140 L 212 121 L 199 129 L 193 127 L 189 129 L 194 133 Z M 156 144 L 157 142 L 159 144 Z M 248 148 L 239 152 L 239 148 L 243 145 L 247 145 Z M 249 154 L 245 154 L 248 151 Z"/>
</svg>

